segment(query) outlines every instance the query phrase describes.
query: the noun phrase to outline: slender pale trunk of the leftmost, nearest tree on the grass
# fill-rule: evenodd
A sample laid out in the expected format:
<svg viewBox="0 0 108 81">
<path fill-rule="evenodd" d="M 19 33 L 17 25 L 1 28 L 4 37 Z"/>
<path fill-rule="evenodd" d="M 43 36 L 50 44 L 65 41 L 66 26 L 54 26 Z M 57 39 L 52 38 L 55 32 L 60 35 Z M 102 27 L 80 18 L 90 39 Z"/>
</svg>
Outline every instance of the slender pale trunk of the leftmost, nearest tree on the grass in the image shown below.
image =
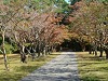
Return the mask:
<svg viewBox="0 0 108 81">
<path fill-rule="evenodd" d="M 5 54 L 5 48 L 4 48 L 4 33 L 5 33 L 5 31 L 2 31 L 2 52 L 3 52 L 3 58 L 4 58 L 5 69 L 9 70 L 8 58 L 6 58 L 6 54 Z"/>
</svg>

